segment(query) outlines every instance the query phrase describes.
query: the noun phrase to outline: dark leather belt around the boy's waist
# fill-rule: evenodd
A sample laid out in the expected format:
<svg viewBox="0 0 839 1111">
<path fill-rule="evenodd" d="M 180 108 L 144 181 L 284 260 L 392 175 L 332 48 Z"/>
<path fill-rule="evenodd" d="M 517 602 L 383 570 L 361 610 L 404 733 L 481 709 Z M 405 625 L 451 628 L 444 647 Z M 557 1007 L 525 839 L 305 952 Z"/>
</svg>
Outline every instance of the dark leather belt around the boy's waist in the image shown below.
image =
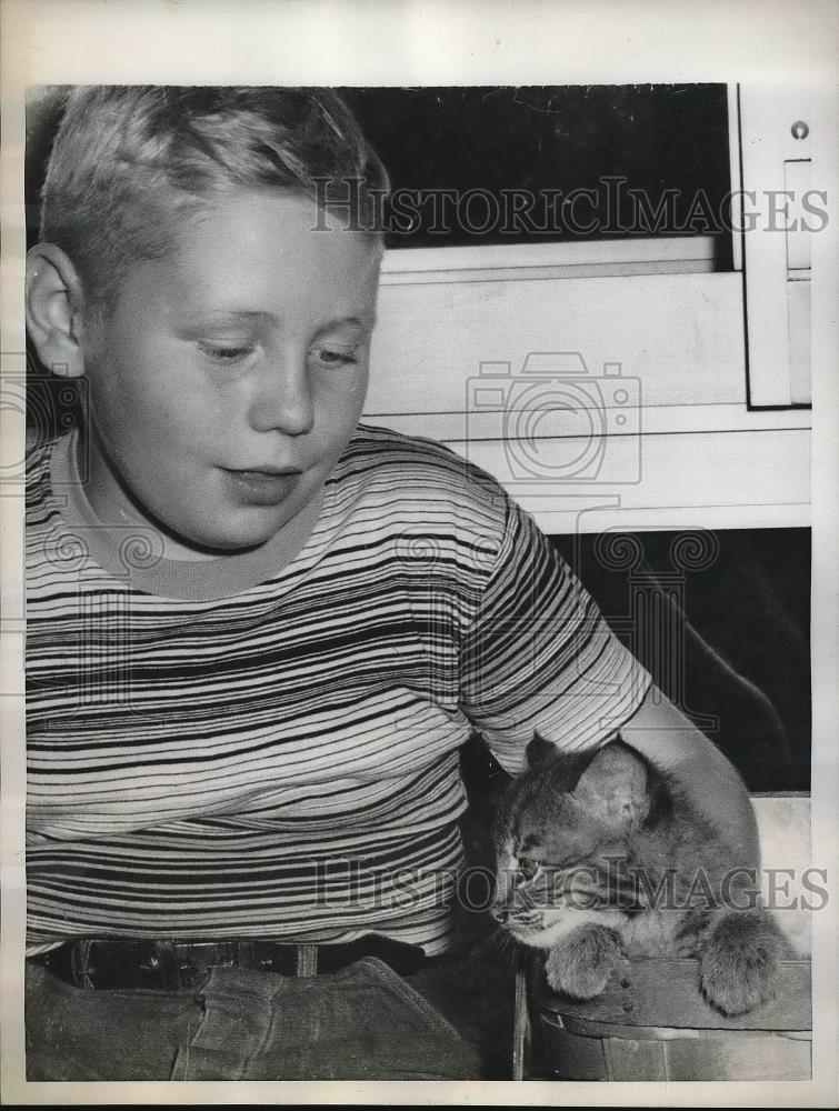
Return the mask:
<svg viewBox="0 0 839 1111">
<path fill-rule="evenodd" d="M 32 957 L 76 988 L 171 991 L 199 987 L 211 968 L 244 968 L 282 975 L 338 972 L 377 957 L 400 975 L 410 975 L 427 958 L 418 945 L 368 934 L 340 944 L 288 944 L 262 939 L 169 941 L 146 938 L 84 938 Z"/>
</svg>

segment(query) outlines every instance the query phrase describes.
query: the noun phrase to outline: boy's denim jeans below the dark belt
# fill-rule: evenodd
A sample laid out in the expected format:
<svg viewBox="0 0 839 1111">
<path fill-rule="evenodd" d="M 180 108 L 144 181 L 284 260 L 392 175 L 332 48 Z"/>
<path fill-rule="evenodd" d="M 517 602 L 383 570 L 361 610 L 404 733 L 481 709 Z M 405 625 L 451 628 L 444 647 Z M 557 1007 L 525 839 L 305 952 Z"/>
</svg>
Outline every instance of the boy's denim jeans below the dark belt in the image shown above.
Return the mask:
<svg viewBox="0 0 839 1111">
<path fill-rule="evenodd" d="M 26 1021 L 30 1081 L 480 1077 L 461 1032 L 376 958 L 316 977 L 214 968 L 178 991 L 86 991 L 28 962 Z"/>
</svg>

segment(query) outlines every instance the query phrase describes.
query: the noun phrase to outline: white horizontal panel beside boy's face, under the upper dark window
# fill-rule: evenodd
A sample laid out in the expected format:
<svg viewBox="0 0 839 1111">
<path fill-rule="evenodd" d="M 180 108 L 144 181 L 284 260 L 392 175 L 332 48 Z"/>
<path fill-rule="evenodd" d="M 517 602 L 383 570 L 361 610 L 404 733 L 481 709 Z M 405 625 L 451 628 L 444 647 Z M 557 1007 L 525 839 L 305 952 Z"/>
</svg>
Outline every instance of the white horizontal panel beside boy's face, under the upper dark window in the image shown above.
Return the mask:
<svg viewBox="0 0 839 1111">
<path fill-rule="evenodd" d="M 366 412 L 462 412 L 481 362 L 579 351 L 651 406 L 745 402 L 741 276 L 382 284 Z"/>
</svg>

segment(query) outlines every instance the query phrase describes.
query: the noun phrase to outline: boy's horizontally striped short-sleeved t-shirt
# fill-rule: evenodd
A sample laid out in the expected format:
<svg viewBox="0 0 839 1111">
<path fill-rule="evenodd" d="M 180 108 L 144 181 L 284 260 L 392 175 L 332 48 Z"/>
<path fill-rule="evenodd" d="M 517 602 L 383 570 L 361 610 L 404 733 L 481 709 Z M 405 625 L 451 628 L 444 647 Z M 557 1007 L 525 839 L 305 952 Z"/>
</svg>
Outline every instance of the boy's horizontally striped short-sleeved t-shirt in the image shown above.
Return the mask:
<svg viewBox="0 0 839 1111">
<path fill-rule="evenodd" d="M 256 552 L 104 528 L 73 433 L 29 469 L 29 943 L 447 947 L 479 730 L 615 733 L 649 677 L 531 519 L 430 441 L 360 427 Z"/>
</svg>

